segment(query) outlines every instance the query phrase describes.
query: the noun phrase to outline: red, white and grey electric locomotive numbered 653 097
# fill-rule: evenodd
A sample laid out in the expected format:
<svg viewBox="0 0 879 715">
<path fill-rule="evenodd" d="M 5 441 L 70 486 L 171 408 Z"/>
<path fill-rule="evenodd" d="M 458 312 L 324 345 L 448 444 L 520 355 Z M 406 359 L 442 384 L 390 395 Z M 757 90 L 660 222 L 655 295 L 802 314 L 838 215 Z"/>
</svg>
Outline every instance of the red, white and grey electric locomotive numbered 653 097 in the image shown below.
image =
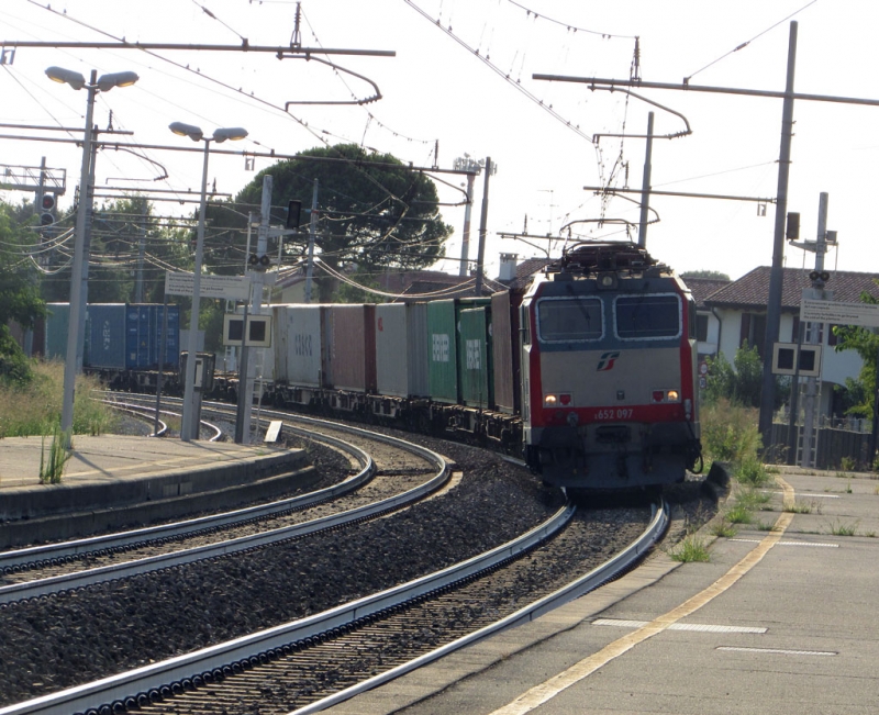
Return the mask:
<svg viewBox="0 0 879 715">
<path fill-rule="evenodd" d="M 696 303 L 632 243 L 572 247 L 521 306 L 525 458 L 558 487 L 627 489 L 701 470 Z"/>
</svg>

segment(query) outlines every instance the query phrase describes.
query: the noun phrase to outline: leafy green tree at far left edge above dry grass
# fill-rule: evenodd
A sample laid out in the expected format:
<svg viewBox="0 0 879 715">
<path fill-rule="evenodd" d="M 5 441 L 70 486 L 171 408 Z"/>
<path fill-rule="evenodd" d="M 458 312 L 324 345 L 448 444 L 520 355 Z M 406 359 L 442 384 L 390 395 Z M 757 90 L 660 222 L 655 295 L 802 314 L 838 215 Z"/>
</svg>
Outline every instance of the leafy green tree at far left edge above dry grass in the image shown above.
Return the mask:
<svg viewBox="0 0 879 715">
<path fill-rule="evenodd" d="M 45 315 L 38 277 L 29 252 L 37 234 L 14 221 L 16 209 L 0 203 L 0 379 L 26 382 L 31 367 L 9 328 L 15 321 L 24 328 Z"/>
</svg>

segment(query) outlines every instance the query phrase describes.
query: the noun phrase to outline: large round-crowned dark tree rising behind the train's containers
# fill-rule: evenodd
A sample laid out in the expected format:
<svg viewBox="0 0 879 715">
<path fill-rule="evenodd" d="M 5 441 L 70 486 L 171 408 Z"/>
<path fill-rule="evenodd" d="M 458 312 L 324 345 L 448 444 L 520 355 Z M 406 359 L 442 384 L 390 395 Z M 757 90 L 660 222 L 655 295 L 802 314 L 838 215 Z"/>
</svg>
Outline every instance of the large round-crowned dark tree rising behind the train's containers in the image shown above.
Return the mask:
<svg viewBox="0 0 879 715">
<path fill-rule="evenodd" d="M 302 205 L 301 233 L 285 238 L 287 262 L 307 254 L 314 179 L 319 182 L 315 254 L 331 272 L 352 265 L 361 276 L 389 267 L 416 269 L 444 256 L 452 227 L 442 221 L 430 178 L 389 154 L 370 154 L 355 144 L 309 149 L 301 157 L 258 174 L 234 202 L 210 204 L 205 265 L 218 273 L 242 271 L 247 213 L 259 210 L 266 174 L 274 179 L 274 206 L 286 209 L 290 200 Z M 276 213 L 272 223 L 285 223 L 286 211 Z M 320 300 L 331 302 L 336 279 L 316 271 L 315 282 Z"/>
</svg>

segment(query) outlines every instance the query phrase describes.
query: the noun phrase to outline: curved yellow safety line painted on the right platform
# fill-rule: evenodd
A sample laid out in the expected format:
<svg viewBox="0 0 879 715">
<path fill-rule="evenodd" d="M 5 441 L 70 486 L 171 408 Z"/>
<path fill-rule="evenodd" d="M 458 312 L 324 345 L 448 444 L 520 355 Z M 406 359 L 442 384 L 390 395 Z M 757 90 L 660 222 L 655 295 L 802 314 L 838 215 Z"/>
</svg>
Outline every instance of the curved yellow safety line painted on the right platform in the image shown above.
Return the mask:
<svg viewBox="0 0 879 715">
<path fill-rule="evenodd" d="M 785 492 L 783 503 L 793 503 L 793 488 L 780 477 L 776 477 L 776 481 Z M 748 552 L 748 555 L 745 556 L 745 558 L 743 558 L 738 563 L 736 563 L 701 593 L 688 599 L 676 608 L 672 608 L 668 613 L 655 618 L 637 630 L 634 630 L 622 638 L 608 644 L 597 653 L 593 653 L 588 658 L 583 658 L 581 661 L 560 672 L 558 675 L 544 681 L 539 685 L 535 685 L 531 690 L 516 697 L 513 702 L 496 710 L 493 713 L 491 713 L 491 715 L 524 715 L 525 713 L 530 713 L 531 711 L 536 710 L 547 701 L 558 695 L 564 690 L 580 682 L 585 678 L 588 678 L 593 672 L 603 666 L 607 666 L 609 662 L 615 658 L 619 658 L 638 644 L 663 633 L 681 618 L 692 615 L 703 605 L 721 595 L 727 589 L 732 588 L 743 576 L 757 566 L 763 557 L 769 552 L 769 549 L 771 549 L 779 541 L 785 530 L 788 528 L 788 526 L 790 526 L 792 520 L 792 513 L 782 513 L 776 521 L 775 525 L 772 526 L 772 530 L 766 536 L 766 538 L 755 546 Z"/>
</svg>

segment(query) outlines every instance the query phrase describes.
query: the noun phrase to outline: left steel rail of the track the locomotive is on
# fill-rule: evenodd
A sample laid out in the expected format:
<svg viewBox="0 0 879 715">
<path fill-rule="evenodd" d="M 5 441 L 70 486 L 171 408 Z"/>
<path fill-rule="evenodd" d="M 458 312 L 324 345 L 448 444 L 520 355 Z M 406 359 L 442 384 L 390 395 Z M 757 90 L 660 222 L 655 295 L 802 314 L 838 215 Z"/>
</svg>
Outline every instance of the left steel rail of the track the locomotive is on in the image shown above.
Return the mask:
<svg viewBox="0 0 879 715">
<path fill-rule="evenodd" d="M 392 589 L 224 644 L 10 705 L 0 708 L 0 715 L 69 715 L 87 712 L 90 708 L 100 710 L 108 703 L 124 703 L 126 699 L 136 697 L 137 694 L 168 683 L 177 684 L 183 680 L 191 680 L 230 663 L 251 662 L 251 659 L 259 659 L 260 656 L 265 658 L 269 651 L 290 643 L 320 637 L 334 628 L 346 626 L 490 569 L 553 536 L 570 521 L 575 511 L 576 507 L 568 504 L 543 524 L 507 544 Z"/>
</svg>

